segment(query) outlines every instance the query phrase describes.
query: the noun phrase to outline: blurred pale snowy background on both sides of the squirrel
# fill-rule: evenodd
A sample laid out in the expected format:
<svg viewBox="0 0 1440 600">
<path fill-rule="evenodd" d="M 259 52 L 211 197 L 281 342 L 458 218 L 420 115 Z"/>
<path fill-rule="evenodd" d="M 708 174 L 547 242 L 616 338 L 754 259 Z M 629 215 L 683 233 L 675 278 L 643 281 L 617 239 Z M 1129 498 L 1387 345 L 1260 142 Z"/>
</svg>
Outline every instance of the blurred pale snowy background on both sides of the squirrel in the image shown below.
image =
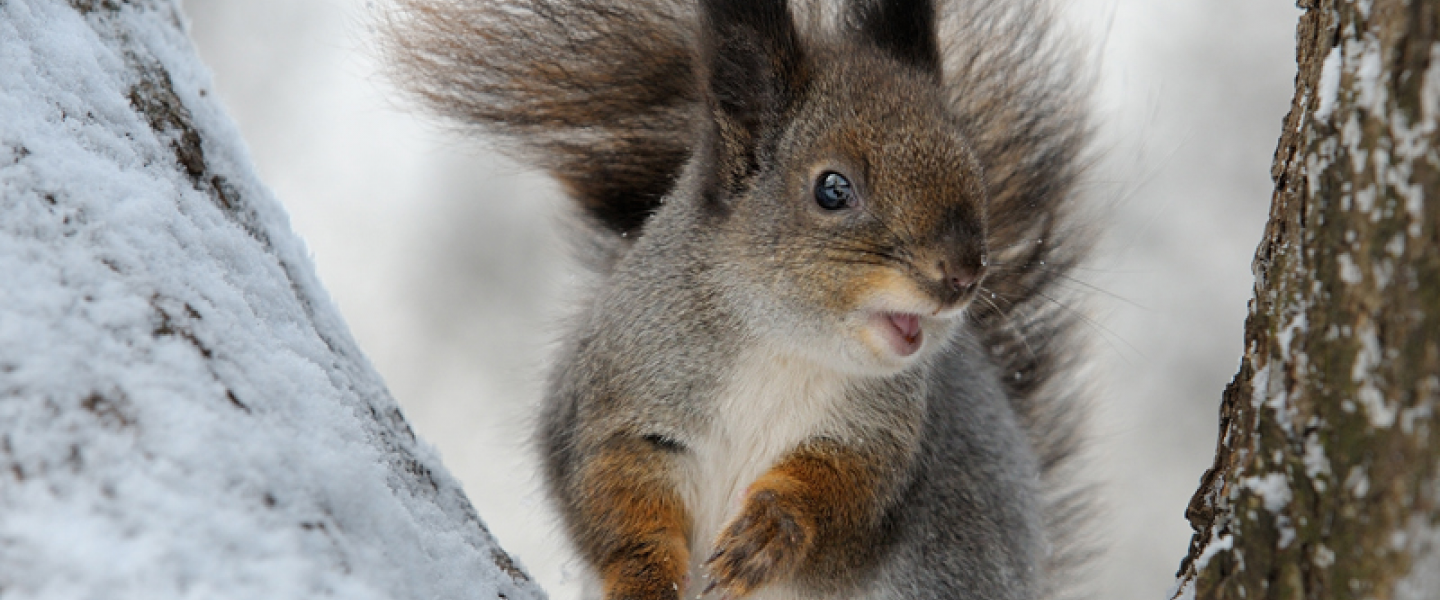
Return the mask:
<svg viewBox="0 0 1440 600">
<path fill-rule="evenodd" d="M 527 453 L 572 265 L 537 173 L 412 114 L 377 75 L 383 0 L 184 0 L 261 177 L 360 344 L 500 541 L 554 599 L 573 564 Z M 1185 554 L 1240 357 L 1250 258 L 1289 109 L 1287 0 L 1071 0 L 1102 55 L 1109 229 L 1081 273 L 1107 544 L 1097 597 L 1158 600 Z"/>
</svg>

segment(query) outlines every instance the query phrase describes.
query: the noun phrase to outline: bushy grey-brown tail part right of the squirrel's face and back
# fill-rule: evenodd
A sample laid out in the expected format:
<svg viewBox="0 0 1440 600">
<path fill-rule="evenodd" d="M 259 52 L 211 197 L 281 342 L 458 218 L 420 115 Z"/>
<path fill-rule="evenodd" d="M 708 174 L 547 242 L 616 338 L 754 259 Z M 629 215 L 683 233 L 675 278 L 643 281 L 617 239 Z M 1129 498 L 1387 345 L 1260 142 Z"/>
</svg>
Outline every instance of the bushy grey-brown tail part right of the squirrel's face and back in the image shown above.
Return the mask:
<svg viewBox="0 0 1440 600">
<path fill-rule="evenodd" d="M 1092 236 L 1076 214 L 1089 167 L 1092 72 L 1045 0 L 950 0 L 940 29 L 950 104 L 985 168 L 991 269 L 971 309 L 1041 462 L 1048 599 L 1084 596 L 1092 494 L 1074 460 L 1090 390 L 1073 271 Z"/>
</svg>

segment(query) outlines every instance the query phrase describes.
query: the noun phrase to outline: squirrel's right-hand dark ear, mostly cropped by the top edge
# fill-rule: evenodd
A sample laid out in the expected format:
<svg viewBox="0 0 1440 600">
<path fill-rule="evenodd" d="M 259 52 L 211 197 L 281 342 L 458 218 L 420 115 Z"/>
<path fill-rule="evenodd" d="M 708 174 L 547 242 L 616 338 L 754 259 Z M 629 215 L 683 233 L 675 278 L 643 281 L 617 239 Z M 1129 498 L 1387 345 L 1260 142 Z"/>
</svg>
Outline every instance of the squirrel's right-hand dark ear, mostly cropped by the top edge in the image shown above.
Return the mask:
<svg viewBox="0 0 1440 600">
<path fill-rule="evenodd" d="M 927 73 L 940 75 L 935 0 L 855 0 L 851 16 L 881 50 Z"/>
</svg>

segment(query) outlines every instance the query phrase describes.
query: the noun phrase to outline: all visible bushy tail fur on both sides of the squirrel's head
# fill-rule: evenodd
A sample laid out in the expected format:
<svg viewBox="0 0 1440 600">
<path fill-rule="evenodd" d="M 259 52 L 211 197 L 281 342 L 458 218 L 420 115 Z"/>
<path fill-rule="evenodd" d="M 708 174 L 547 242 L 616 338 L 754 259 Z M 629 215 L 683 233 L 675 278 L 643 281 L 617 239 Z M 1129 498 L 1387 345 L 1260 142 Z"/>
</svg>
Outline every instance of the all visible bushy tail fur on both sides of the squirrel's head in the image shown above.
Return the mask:
<svg viewBox="0 0 1440 600">
<path fill-rule="evenodd" d="M 624 250 L 644 235 L 703 118 L 691 1 L 395 1 L 382 39 L 405 89 L 544 167 L 598 247 Z M 796 4 L 802 37 L 845 27 L 835 7 Z M 1060 380 L 1077 355 L 1061 281 L 1087 246 L 1071 216 L 1089 137 L 1086 55 L 1057 32 L 1045 0 L 939 4 L 950 105 L 989 187 L 991 275 L 972 314 L 1043 462 L 1048 578 L 1067 581 L 1086 511 L 1068 476 L 1081 419 Z"/>
</svg>

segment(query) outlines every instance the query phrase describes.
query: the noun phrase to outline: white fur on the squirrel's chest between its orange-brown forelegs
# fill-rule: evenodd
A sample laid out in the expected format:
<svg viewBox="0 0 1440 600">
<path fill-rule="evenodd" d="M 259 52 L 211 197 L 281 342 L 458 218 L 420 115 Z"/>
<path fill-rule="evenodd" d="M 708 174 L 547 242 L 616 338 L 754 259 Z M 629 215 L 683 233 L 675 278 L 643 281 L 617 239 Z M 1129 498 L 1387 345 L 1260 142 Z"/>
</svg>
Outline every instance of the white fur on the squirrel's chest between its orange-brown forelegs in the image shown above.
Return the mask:
<svg viewBox="0 0 1440 600">
<path fill-rule="evenodd" d="M 696 599 L 708 583 L 701 563 L 746 488 L 801 442 L 835 427 L 844 397 L 844 376 L 809 361 L 756 351 L 739 363 L 714 404 L 710 430 L 691 447 L 681 482 L 693 535 L 685 599 Z M 778 586 L 752 597 L 793 596 Z"/>
</svg>

